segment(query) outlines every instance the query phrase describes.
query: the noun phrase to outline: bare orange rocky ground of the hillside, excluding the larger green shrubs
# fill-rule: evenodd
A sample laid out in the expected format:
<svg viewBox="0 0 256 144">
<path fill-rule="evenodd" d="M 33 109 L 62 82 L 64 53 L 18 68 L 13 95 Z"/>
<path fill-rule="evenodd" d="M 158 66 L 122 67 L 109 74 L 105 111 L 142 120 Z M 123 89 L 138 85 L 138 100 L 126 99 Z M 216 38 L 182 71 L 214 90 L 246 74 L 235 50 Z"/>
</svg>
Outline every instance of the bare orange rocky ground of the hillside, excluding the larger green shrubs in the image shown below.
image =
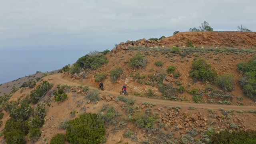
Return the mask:
<svg viewBox="0 0 256 144">
<path fill-rule="evenodd" d="M 26 136 L 27 143 L 32 140 L 36 144 L 50 143 L 57 133 L 67 133 L 67 120 L 85 112 L 99 114 L 104 119 L 106 144 L 207 144 L 213 141 L 213 134 L 223 130 L 256 130 L 252 123 L 256 116 L 255 102 L 242 92 L 238 79 L 243 73 L 237 70 L 237 64 L 255 56 L 255 40 L 255 32 L 180 32 L 157 41 L 128 40 L 106 54 L 108 62 L 97 70 L 43 77 L 42 80 L 53 84 L 39 100 L 47 112 L 40 136 L 38 139 Z M 188 48 L 188 41 L 196 48 Z M 141 68 L 130 65 L 136 56 L 145 60 Z M 218 76 L 232 75 L 234 88 L 223 90 L 210 79 L 193 80 L 190 75 L 193 61 L 202 59 L 206 66 L 210 64 L 208 71 Z M 122 74 L 112 82 L 111 73 L 116 68 L 122 69 Z M 105 90 L 99 91 L 96 78 L 102 73 L 106 74 L 101 80 Z M 42 81 L 36 86 L 39 84 Z M 127 86 L 128 97 L 120 96 L 122 85 Z M 67 94 L 67 100 L 56 100 L 54 90 L 60 88 Z M 8 102 L 20 102 L 32 90 L 22 88 Z M 2 112 L 0 129 L 4 130 L 13 114 Z M 3 135 L 0 138 L 2 143 L 6 142 Z"/>
</svg>

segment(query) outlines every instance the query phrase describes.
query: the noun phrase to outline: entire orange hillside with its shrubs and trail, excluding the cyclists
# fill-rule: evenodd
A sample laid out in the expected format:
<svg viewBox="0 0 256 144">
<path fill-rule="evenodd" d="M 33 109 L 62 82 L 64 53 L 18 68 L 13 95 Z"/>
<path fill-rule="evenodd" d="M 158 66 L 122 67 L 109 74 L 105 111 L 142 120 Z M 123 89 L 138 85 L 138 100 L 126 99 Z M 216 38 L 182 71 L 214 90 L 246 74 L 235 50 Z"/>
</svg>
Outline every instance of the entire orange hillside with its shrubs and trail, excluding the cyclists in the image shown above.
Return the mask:
<svg viewBox="0 0 256 144">
<path fill-rule="evenodd" d="M 179 32 L 90 52 L 2 95 L 2 143 L 253 144 L 255 40 Z"/>
</svg>

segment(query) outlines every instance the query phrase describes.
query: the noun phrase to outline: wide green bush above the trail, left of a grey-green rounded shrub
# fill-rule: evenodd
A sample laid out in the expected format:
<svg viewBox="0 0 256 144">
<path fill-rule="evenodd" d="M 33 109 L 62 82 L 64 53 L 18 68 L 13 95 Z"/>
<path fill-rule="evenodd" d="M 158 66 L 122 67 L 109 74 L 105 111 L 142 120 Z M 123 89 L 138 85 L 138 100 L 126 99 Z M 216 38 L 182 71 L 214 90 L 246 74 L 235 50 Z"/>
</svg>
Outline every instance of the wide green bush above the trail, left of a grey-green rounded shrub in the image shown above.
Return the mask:
<svg viewBox="0 0 256 144">
<path fill-rule="evenodd" d="M 211 65 L 206 63 L 206 60 L 199 58 L 192 62 L 192 70 L 190 70 L 190 76 L 193 80 L 200 80 L 203 82 L 213 82 L 217 77 L 217 72 L 211 69 Z"/>
</svg>

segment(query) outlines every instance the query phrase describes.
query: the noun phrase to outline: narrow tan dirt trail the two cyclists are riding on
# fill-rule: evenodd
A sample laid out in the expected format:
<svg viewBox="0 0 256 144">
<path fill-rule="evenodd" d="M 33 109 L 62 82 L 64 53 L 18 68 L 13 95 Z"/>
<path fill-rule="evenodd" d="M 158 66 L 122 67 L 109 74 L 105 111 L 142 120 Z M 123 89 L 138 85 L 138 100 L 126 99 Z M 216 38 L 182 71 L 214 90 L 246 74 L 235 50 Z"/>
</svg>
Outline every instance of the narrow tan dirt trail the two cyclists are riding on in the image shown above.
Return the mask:
<svg viewBox="0 0 256 144">
<path fill-rule="evenodd" d="M 54 82 L 56 84 L 67 84 L 67 85 L 74 85 L 74 86 L 80 86 L 81 84 L 78 84 L 76 82 L 72 82 L 69 80 L 65 80 L 62 78 L 61 74 L 53 74 L 50 75 Z M 95 88 L 91 87 L 90 88 Z M 104 90 L 103 92 L 100 91 L 102 94 L 112 94 L 112 95 L 120 95 L 119 91 L 108 91 Z M 150 102 L 155 104 L 162 104 L 166 106 L 182 106 L 182 108 L 188 108 L 189 106 L 193 106 L 196 108 L 207 108 L 207 109 L 214 109 L 217 110 L 219 108 L 224 108 L 226 110 L 235 109 L 235 110 L 249 110 L 249 109 L 256 109 L 256 106 L 234 106 L 234 105 L 224 105 L 224 104 L 197 104 L 197 103 L 188 103 L 188 102 L 178 102 L 178 101 L 171 101 L 171 100 L 160 100 L 160 99 L 152 99 L 152 98 L 144 98 L 139 96 L 133 96 L 131 94 L 128 95 L 129 97 L 132 97 L 136 102 Z"/>
</svg>

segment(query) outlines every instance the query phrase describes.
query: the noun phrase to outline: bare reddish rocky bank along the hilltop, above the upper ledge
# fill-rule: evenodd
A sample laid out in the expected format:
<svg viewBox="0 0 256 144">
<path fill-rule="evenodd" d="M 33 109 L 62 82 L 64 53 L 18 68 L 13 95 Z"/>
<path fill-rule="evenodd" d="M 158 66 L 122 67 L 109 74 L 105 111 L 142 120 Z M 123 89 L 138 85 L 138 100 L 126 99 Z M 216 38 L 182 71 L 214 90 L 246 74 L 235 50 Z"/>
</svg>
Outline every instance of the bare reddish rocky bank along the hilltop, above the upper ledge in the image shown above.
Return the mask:
<svg viewBox="0 0 256 144">
<path fill-rule="evenodd" d="M 145 38 L 136 41 L 127 40 L 126 42 L 121 42 L 112 51 L 116 52 L 118 49 L 128 50 L 129 46 L 186 47 L 188 41 L 198 48 L 255 48 L 256 32 L 179 32 L 157 41 L 146 40 Z"/>
</svg>

